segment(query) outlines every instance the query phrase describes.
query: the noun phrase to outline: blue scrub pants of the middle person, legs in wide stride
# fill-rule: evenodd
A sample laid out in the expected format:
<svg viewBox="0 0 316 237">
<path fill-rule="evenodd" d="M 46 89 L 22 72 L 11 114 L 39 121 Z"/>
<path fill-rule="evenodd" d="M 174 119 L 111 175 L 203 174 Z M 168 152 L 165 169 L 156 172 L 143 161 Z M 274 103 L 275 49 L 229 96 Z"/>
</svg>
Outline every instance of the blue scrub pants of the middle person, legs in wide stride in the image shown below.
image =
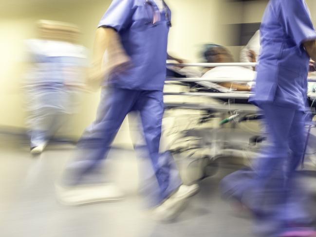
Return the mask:
<svg viewBox="0 0 316 237">
<path fill-rule="evenodd" d="M 139 111 L 140 114 L 147 153 L 159 186 L 156 197 L 158 204 L 182 183 L 171 154 L 159 153 L 164 113 L 163 91 L 102 89 L 97 118 L 79 141 L 78 154 L 81 155 L 69 168 L 76 169 L 74 184 L 80 183 L 86 174 L 93 172 L 108 154 L 117 131 L 131 111 Z"/>
</svg>

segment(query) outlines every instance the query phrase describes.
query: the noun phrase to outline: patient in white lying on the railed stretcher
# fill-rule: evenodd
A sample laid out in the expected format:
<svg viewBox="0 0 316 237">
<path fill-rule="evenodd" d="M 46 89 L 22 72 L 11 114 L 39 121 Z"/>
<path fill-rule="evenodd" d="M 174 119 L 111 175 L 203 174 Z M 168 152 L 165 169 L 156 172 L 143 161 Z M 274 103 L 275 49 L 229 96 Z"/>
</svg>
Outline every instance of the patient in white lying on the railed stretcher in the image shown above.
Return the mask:
<svg viewBox="0 0 316 237">
<path fill-rule="evenodd" d="M 205 45 L 205 50 L 202 54 L 204 62 L 206 63 L 230 63 L 234 62 L 232 55 L 223 46 L 219 45 Z M 202 70 L 195 70 L 191 67 L 178 68 L 169 67 L 169 70 L 176 72 L 178 75 L 184 75 L 185 77 L 197 77 L 207 79 L 230 79 L 227 82 L 208 82 L 200 81 L 196 84 L 210 88 L 219 92 L 233 92 L 233 91 L 251 91 L 252 82 L 250 83 L 236 83 L 240 79 L 254 80 L 256 78 L 256 72 L 240 66 L 219 66 L 219 67 L 206 67 Z M 172 75 L 171 75 L 172 76 Z"/>
</svg>

